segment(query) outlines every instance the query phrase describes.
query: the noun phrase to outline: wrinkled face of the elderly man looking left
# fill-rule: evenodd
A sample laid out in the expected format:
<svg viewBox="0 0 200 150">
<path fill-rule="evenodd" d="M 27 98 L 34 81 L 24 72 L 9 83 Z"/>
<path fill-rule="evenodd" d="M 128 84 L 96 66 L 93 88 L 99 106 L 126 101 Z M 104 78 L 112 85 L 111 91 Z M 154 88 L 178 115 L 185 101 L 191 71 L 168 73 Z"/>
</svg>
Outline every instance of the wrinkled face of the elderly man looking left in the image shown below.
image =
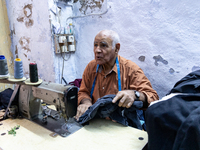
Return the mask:
<svg viewBox="0 0 200 150">
<path fill-rule="evenodd" d="M 94 39 L 95 60 L 99 65 L 109 65 L 115 62 L 115 48 L 112 48 L 112 39 L 103 32 Z"/>
</svg>

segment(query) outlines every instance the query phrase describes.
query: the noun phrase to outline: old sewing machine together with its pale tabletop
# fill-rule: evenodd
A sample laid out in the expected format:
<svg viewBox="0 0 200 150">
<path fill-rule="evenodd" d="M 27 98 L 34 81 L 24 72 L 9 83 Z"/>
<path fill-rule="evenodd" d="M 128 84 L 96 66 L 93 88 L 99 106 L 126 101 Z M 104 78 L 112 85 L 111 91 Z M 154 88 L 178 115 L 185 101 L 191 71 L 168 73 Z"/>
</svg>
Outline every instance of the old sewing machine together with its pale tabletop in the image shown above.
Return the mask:
<svg viewBox="0 0 200 150">
<path fill-rule="evenodd" d="M 2 79 L 0 79 L 0 83 L 13 84 Z M 19 85 L 18 90 L 16 90 L 17 85 Z M 30 86 L 25 85 L 24 82 L 16 82 L 13 95 L 15 93 L 18 93 L 16 95 L 19 97 L 20 114 L 27 119 L 8 118 L 0 122 L 2 123 L 0 134 L 20 125 L 20 129 L 17 130 L 17 138 L 14 137 L 15 140 L 13 140 L 11 135 L 4 135 L 0 148 L 14 149 L 17 147 L 18 149 L 42 150 L 45 146 L 46 149 L 68 150 L 141 150 L 148 141 L 145 131 L 126 127 L 111 120 L 94 119 L 84 127 L 75 124 L 73 116 L 76 114 L 77 108 L 77 88 L 71 85 L 43 82 L 39 86 Z M 43 105 L 44 102 L 47 105 Z M 48 104 L 55 106 L 56 109 L 49 111 L 49 108 L 46 108 L 49 106 Z M 57 115 L 60 119 L 57 118 Z M 54 132 L 61 136 L 56 136 Z M 62 138 L 73 132 L 75 132 L 73 135 Z"/>
</svg>

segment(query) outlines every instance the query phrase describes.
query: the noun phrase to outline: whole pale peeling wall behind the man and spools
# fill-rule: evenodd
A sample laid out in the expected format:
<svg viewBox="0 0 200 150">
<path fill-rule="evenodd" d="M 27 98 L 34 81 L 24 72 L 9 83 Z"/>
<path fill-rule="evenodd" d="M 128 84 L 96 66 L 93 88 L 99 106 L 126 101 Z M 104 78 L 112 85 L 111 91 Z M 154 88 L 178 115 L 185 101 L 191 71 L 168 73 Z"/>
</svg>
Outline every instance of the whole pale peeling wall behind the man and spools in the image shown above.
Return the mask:
<svg viewBox="0 0 200 150">
<path fill-rule="evenodd" d="M 119 54 L 137 63 L 163 97 L 172 86 L 189 72 L 200 69 L 200 2 L 199 0 L 79 0 L 74 3 L 73 24 L 76 52 L 66 54 L 64 78 L 69 82 L 81 78 L 85 66 L 94 59 L 93 40 L 102 29 L 112 29 L 121 37 Z M 102 3 L 104 2 L 104 3 Z M 24 16 L 23 7 L 32 4 L 34 20 L 31 27 L 17 21 Z M 23 59 L 25 72 L 28 63 L 36 61 L 39 75 L 46 81 L 60 82 L 63 60 L 55 54 L 51 41 L 48 4 L 39 0 L 7 0 L 13 33 L 13 53 Z M 69 7 L 68 9 L 71 9 Z M 71 13 L 65 14 L 66 18 Z M 63 18 L 65 19 L 65 18 Z M 18 19 L 19 20 L 19 19 Z M 25 37 L 23 39 L 23 37 Z M 20 45 L 20 38 L 31 51 Z M 145 59 L 144 59 L 145 58 Z"/>
</svg>

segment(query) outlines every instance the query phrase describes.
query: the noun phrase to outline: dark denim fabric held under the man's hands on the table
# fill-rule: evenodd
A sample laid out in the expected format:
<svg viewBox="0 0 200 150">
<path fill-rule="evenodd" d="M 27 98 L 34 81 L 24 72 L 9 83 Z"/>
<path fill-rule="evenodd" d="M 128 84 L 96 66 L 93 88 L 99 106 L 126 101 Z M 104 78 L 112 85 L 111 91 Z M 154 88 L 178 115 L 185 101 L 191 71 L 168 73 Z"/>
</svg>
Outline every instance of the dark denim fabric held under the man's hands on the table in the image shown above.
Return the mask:
<svg viewBox="0 0 200 150">
<path fill-rule="evenodd" d="M 105 95 L 97 100 L 88 110 L 79 118 L 79 123 L 84 124 L 94 117 L 109 117 L 116 122 L 142 129 L 136 110 L 143 107 L 141 101 L 135 101 L 130 108 L 119 107 L 118 102 L 112 103 L 116 95 Z"/>
</svg>

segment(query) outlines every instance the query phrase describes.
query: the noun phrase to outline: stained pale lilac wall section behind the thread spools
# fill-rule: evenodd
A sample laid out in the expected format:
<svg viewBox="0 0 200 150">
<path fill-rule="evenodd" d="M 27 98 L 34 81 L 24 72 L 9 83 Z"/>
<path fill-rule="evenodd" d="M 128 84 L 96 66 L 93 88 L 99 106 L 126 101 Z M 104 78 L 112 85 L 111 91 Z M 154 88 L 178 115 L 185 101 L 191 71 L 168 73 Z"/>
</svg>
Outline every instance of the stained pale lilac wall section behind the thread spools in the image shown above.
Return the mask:
<svg viewBox="0 0 200 150">
<path fill-rule="evenodd" d="M 38 76 L 44 81 L 54 81 L 48 2 L 20 0 L 6 3 L 12 39 L 11 51 L 14 59 L 22 59 L 24 76 L 29 78 L 29 63 L 35 62 Z"/>
</svg>

